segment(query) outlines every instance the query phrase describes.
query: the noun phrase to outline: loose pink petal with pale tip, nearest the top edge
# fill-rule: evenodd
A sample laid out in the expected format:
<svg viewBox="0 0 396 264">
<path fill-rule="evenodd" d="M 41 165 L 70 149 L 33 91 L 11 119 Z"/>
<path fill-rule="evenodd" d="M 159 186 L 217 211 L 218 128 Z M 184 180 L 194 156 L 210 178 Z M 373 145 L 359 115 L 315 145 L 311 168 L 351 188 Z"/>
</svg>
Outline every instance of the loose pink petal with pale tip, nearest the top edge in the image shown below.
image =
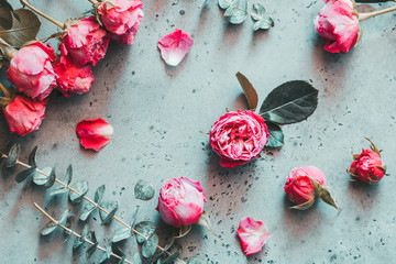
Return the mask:
<svg viewBox="0 0 396 264">
<path fill-rule="evenodd" d="M 166 64 L 177 66 L 186 56 L 193 44 L 194 41 L 188 33 L 176 30 L 160 38 L 158 48 L 161 51 L 161 56 Z"/>
</svg>

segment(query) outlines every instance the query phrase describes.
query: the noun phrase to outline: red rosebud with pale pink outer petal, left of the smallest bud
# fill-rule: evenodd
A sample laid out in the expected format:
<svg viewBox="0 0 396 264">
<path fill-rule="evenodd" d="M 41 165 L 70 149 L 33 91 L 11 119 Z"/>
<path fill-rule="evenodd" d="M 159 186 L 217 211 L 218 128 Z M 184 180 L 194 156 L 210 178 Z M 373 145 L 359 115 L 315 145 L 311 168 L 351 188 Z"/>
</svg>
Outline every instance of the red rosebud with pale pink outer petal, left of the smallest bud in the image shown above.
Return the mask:
<svg viewBox="0 0 396 264">
<path fill-rule="evenodd" d="M 305 166 L 292 170 L 284 188 L 290 201 L 300 205 L 315 197 L 315 187 L 309 178 L 318 182 L 321 186 L 326 183 L 324 174 L 317 167 Z"/>
</svg>

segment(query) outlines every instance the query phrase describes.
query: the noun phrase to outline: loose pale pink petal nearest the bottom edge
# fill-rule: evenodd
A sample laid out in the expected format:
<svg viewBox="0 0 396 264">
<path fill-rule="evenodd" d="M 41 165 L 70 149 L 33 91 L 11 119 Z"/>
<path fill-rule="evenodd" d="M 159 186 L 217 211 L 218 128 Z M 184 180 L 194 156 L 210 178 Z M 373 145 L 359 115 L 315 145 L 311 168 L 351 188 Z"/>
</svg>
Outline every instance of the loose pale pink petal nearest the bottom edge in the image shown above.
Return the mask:
<svg viewBox="0 0 396 264">
<path fill-rule="evenodd" d="M 262 251 L 265 241 L 270 238 L 265 223 L 255 221 L 251 217 L 241 219 L 237 233 L 246 256 Z"/>
</svg>

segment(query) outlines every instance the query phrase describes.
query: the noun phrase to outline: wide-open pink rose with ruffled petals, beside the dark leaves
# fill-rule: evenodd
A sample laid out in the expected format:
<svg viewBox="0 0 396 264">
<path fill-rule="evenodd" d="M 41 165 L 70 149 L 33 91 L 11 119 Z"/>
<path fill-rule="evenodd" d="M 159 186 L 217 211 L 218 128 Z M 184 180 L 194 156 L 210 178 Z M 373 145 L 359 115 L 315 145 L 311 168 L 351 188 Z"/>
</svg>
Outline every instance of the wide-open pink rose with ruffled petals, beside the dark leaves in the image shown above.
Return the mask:
<svg viewBox="0 0 396 264">
<path fill-rule="evenodd" d="M 264 119 L 252 111 L 228 112 L 210 129 L 210 144 L 223 167 L 234 167 L 256 158 L 268 136 Z"/>
</svg>

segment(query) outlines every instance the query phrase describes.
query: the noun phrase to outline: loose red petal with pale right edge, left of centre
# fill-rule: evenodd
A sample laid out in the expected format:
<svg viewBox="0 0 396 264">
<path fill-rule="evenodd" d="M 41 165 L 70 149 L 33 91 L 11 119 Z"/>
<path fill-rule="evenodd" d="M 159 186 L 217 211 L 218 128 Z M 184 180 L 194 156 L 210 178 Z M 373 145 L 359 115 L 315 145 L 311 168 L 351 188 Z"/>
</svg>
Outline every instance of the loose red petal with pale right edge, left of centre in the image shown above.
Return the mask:
<svg viewBox="0 0 396 264">
<path fill-rule="evenodd" d="M 102 119 L 90 119 L 80 121 L 76 132 L 85 148 L 99 151 L 109 143 L 114 130 Z"/>
</svg>

